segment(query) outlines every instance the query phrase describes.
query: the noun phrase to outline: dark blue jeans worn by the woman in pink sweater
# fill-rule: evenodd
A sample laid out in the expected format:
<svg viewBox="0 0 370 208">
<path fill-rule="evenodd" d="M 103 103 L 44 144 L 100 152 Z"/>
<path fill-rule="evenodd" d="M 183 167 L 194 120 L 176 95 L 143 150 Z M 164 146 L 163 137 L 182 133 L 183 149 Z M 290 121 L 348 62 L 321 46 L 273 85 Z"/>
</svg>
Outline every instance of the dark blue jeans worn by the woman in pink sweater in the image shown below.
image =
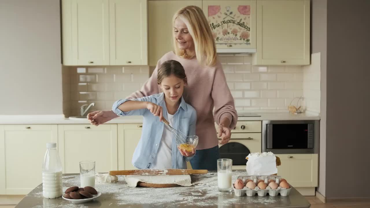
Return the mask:
<svg viewBox="0 0 370 208">
<path fill-rule="evenodd" d="M 217 159 L 220 158 L 218 145 L 204 150 L 197 150 L 190 160 L 194 170 L 217 170 Z"/>
</svg>

